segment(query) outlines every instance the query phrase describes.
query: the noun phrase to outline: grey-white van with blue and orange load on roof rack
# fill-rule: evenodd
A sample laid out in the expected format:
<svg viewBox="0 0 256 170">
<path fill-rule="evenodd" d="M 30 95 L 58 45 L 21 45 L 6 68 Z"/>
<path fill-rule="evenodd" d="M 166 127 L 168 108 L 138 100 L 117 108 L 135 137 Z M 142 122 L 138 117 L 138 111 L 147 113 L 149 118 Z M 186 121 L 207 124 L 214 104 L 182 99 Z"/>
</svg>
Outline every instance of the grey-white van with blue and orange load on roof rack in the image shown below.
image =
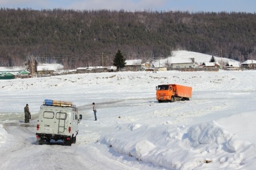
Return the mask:
<svg viewBox="0 0 256 170">
<path fill-rule="evenodd" d="M 40 107 L 36 125 L 37 143 L 63 140 L 64 145 L 75 143 L 78 134 L 79 115 L 72 102 L 45 99 Z"/>
</svg>

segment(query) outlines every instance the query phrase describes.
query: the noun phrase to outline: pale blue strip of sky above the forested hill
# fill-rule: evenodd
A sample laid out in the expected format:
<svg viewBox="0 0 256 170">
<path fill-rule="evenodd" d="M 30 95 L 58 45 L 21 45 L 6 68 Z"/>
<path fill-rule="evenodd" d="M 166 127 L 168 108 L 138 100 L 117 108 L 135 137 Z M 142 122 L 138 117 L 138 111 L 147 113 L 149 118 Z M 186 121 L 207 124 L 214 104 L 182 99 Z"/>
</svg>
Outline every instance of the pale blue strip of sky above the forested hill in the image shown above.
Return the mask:
<svg viewBox="0 0 256 170">
<path fill-rule="evenodd" d="M 2 8 L 255 13 L 255 0 L 0 0 Z"/>
</svg>

